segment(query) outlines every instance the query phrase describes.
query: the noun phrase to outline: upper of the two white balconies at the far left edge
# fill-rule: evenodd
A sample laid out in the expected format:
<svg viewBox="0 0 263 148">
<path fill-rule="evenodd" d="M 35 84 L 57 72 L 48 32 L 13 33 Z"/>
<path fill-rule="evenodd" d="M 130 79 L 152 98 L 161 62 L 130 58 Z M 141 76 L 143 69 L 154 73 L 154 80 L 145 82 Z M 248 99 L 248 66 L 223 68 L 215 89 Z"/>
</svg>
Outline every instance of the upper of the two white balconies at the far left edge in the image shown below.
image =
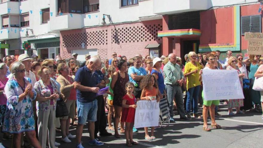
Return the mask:
<svg viewBox="0 0 263 148">
<path fill-rule="evenodd" d="M 1 0 L 0 0 L 1 2 Z M 5 1 L 0 3 L 0 15 L 2 14 L 19 14 L 19 2 L 18 1 Z M 10 10 L 8 10 L 10 9 Z"/>
</svg>

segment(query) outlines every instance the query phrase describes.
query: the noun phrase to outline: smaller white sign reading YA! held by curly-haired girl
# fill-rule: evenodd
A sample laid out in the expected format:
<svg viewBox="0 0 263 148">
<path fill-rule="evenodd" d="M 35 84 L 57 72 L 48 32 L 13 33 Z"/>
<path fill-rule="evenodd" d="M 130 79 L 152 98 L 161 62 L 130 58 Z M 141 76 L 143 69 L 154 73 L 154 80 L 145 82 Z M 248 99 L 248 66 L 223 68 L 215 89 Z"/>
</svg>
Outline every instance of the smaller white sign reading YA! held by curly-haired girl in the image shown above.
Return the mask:
<svg viewBox="0 0 263 148">
<path fill-rule="evenodd" d="M 158 126 L 160 111 L 159 102 L 156 102 L 156 100 L 140 100 L 136 105 L 137 108 L 134 119 L 135 128 Z"/>
</svg>

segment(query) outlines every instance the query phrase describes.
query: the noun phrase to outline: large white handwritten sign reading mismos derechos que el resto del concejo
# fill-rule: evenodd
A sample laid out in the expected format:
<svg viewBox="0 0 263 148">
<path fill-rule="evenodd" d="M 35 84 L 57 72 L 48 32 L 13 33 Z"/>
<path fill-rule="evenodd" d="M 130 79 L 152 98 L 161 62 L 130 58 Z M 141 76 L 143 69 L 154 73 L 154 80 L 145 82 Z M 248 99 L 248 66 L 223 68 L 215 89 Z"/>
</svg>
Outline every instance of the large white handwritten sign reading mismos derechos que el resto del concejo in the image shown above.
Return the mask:
<svg viewBox="0 0 263 148">
<path fill-rule="evenodd" d="M 204 100 L 244 99 L 236 70 L 203 69 Z"/>
</svg>

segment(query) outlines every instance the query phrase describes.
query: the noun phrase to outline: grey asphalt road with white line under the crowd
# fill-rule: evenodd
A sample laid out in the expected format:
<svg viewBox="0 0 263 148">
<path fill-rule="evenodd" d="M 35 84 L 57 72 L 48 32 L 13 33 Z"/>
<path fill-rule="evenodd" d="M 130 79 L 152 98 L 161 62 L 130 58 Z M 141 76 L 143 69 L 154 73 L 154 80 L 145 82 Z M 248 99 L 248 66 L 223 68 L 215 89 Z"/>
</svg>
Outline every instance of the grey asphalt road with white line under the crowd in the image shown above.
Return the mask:
<svg viewBox="0 0 263 148">
<path fill-rule="evenodd" d="M 192 121 L 180 121 L 179 115 L 174 116 L 175 123 L 171 123 L 166 128 L 155 129 L 155 137 L 157 139 L 147 141 L 144 139 L 143 129 L 134 133 L 134 141 L 140 143 L 140 148 L 198 148 L 198 147 L 262 147 L 263 144 L 263 120 L 261 113 L 255 111 L 248 111 L 244 115 L 236 115 L 230 117 L 227 115 L 227 106 L 220 105 L 222 117 L 217 118 L 217 123 L 222 126 L 222 129 L 212 129 L 211 132 L 203 130 L 203 119 L 192 118 Z M 199 110 L 200 114 L 202 110 Z M 209 122 L 210 125 L 211 122 Z M 76 127 L 71 127 L 70 132 L 72 135 L 76 133 Z M 112 131 L 108 131 L 114 134 Z M 2 139 L 2 134 L 0 135 Z M 73 139 L 72 143 L 63 143 L 60 141 L 61 134 L 56 133 L 56 142 L 61 143 L 59 148 L 76 147 L 76 140 Z M 127 147 L 124 134 L 121 138 L 117 139 L 114 136 L 100 137 L 100 141 L 104 143 L 103 146 L 90 146 L 88 145 L 89 134 L 87 126 L 84 126 L 82 135 L 82 145 L 84 147 Z M 5 147 L 10 147 L 11 141 L 2 141 Z"/>
</svg>

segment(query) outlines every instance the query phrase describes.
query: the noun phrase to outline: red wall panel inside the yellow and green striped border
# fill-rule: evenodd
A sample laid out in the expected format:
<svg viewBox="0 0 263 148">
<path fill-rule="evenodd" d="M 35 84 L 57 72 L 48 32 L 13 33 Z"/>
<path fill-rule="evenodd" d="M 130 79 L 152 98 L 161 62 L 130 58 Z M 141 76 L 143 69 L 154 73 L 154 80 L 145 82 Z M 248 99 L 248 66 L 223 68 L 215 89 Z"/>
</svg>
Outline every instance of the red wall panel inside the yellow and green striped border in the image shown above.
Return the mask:
<svg viewBox="0 0 263 148">
<path fill-rule="evenodd" d="M 200 12 L 200 44 L 232 43 L 233 7 Z"/>
</svg>

